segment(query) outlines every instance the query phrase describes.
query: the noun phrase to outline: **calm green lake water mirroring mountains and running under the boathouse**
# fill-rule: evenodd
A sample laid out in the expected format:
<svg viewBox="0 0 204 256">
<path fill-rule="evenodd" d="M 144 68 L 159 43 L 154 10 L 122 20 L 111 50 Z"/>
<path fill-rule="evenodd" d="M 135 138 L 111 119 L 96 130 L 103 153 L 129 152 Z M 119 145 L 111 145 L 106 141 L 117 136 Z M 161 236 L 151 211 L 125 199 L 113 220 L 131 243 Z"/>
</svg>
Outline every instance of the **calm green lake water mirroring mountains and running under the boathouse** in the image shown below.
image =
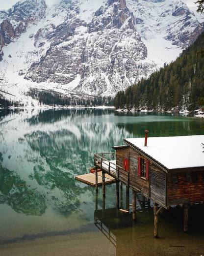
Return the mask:
<svg viewBox="0 0 204 256">
<path fill-rule="evenodd" d="M 94 224 L 95 216 L 115 240 L 121 241 L 115 248 L 105 238 L 110 255 L 124 255 L 124 250 L 129 255 L 140 255 L 146 250 L 148 254 L 155 243 L 158 250 L 154 253 L 158 254 L 164 247 L 169 254 L 204 254 L 204 222 L 197 223 L 198 218 L 194 218 L 204 214 L 202 207 L 191 210 L 187 235 L 182 232 L 182 209 L 165 213 L 160 234 L 166 240 L 155 242 L 152 210 L 142 205 L 139 197 L 138 222 L 132 225 L 131 216 L 116 216 L 115 185 L 106 188 L 105 207 L 111 210 L 102 215 L 101 189 L 99 211 L 95 212 L 95 190 L 74 179 L 75 175 L 89 172 L 94 153 L 122 145 L 123 138 L 142 137 L 145 129 L 150 130 L 150 136 L 204 134 L 204 120 L 164 114 L 124 114 L 111 109 L 1 110 L 0 244 L 59 235 L 69 239 L 73 234 L 90 232 L 100 240 L 104 235 Z M 125 195 L 124 191 L 123 202 Z M 178 241 L 184 247 L 174 247 L 180 246 Z M 118 244 L 122 248 L 118 249 Z M 83 243 L 80 246 L 83 250 Z"/>
</svg>

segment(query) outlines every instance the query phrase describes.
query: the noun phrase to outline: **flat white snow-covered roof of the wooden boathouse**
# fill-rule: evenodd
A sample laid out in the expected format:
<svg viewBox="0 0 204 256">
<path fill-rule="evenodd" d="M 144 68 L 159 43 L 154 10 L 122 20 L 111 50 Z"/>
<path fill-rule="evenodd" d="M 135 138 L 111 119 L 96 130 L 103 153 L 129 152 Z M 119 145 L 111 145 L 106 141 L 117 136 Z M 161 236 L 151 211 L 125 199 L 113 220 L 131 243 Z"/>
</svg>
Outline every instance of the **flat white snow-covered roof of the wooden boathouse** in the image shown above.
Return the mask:
<svg viewBox="0 0 204 256">
<path fill-rule="evenodd" d="M 204 135 L 125 139 L 168 169 L 204 166 Z"/>
</svg>

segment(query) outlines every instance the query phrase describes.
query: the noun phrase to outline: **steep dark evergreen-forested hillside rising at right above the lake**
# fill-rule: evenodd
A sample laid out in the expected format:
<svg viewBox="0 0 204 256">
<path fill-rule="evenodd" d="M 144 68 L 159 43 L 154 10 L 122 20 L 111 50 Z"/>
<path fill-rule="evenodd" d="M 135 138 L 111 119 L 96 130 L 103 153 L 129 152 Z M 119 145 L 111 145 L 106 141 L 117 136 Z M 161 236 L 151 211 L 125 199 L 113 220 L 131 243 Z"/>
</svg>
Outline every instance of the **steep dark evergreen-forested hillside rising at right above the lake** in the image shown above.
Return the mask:
<svg viewBox="0 0 204 256">
<path fill-rule="evenodd" d="M 204 97 L 204 33 L 175 62 L 119 92 L 115 107 L 192 111 L 199 107 L 198 97 Z"/>
</svg>

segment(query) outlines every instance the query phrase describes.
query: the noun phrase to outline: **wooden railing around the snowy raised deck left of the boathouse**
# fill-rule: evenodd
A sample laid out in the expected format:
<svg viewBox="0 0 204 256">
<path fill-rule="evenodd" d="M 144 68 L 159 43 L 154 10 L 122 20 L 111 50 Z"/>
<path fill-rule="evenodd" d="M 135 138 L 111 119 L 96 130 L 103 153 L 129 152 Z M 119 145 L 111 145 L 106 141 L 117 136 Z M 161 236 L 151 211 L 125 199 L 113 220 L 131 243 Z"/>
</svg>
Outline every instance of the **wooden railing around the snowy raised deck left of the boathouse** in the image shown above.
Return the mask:
<svg viewBox="0 0 204 256">
<path fill-rule="evenodd" d="M 103 152 L 103 153 L 96 153 L 94 154 L 94 165 L 98 166 L 101 170 L 105 170 L 108 172 L 109 175 L 114 175 L 119 179 L 120 170 L 125 171 L 125 169 L 112 162 L 111 160 L 115 159 L 114 152 Z"/>
</svg>

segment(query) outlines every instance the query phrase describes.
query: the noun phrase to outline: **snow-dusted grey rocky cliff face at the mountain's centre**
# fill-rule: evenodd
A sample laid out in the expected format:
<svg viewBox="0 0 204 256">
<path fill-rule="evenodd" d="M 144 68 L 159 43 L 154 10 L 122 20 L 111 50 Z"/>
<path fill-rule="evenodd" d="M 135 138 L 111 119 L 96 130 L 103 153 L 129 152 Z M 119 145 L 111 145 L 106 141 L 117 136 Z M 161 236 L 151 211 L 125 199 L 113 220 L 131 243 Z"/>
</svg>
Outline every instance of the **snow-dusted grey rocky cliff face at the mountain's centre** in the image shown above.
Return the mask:
<svg viewBox="0 0 204 256">
<path fill-rule="evenodd" d="M 90 22 L 81 19 L 79 2 L 67 7 L 71 12 L 46 35 L 51 47 L 29 68 L 26 79 L 49 80 L 67 89 L 74 83 L 76 92 L 111 95 L 151 73 L 154 64 L 144 62 L 140 67 L 147 58 L 147 47 L 124 0 L 107 1 Z"/>
</svg>

